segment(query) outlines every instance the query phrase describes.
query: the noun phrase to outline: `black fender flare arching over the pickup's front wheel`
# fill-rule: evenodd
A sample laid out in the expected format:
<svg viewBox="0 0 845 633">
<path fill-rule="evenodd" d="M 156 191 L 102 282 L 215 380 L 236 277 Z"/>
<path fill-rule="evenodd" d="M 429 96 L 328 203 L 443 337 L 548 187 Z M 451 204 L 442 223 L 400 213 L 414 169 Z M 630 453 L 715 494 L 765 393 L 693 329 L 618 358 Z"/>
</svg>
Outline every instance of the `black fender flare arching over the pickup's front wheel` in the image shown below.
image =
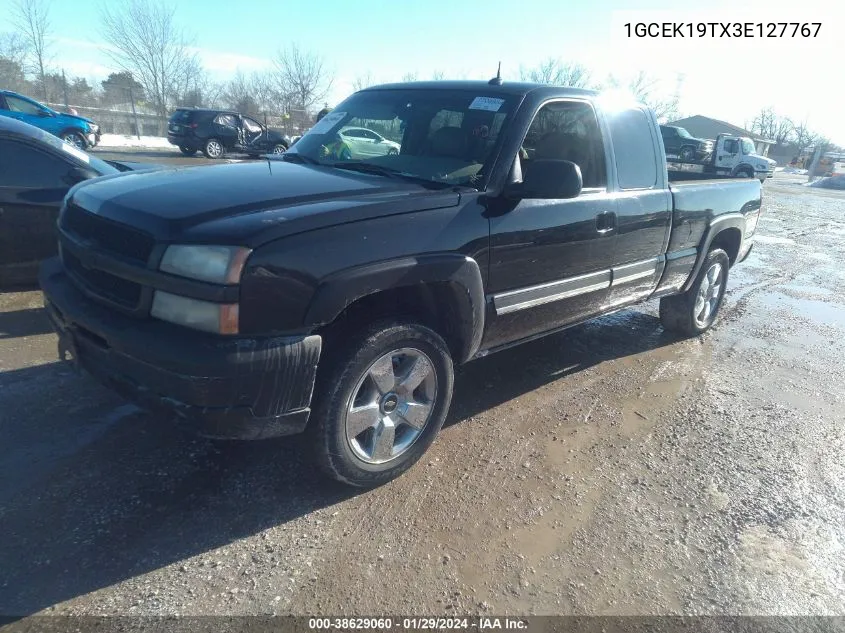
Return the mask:
<svg viewBox="0 0 845 633">
<path fill-rule="evenodd" d="M 456 362 L 472 358 L 484 334 L 478 263 L 457 254 L 409 257 L 342 271 L 324 280 L 305 325 L 332 334 L 384 316 L 412 315 L 446 340 Z"/>
</svg>

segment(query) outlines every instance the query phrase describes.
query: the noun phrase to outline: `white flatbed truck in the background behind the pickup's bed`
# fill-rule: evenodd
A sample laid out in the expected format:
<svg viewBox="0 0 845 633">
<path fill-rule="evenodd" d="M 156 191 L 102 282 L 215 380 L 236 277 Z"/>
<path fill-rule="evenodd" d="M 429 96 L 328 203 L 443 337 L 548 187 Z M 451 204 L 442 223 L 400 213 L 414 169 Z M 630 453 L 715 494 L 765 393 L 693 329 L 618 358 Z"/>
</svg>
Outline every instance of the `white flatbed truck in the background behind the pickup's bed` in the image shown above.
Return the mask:
<svg viewBox="0 0 845 633">
<path fill-rule="evenodd" d="M 670 177 L 758 178 L 760 182 L 771 178 L 777 165 L 771 158 L 758 154 L 750 138 L 731 134 L 719 134 L 713 142 L 713 151 L 703 159 L 683 160 L 667 153 L 666 163 Z"/>
</svg>

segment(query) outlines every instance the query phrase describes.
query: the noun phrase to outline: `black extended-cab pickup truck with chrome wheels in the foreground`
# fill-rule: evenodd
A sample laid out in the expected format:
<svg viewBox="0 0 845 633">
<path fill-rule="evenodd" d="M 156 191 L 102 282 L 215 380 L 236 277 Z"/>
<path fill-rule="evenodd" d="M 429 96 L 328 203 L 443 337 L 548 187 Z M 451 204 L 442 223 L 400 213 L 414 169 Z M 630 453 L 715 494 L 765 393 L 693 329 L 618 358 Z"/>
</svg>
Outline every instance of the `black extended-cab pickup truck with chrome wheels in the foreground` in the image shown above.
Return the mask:
<svg viewBox="0 0 845 633">
<path fill-rule="evenodd" d="M 401 149 L 356 156 L 348 127 Z M 454 364 L 654 297 L 707 330 L 760 205 L 757 180 L 670 185 L 636 103 L 392 84 L 278 157 L 76 186 L 40 282 L 62 358 L 207 436 L 307 432 L 371 486 L 430 446 Z"/>
</svg>

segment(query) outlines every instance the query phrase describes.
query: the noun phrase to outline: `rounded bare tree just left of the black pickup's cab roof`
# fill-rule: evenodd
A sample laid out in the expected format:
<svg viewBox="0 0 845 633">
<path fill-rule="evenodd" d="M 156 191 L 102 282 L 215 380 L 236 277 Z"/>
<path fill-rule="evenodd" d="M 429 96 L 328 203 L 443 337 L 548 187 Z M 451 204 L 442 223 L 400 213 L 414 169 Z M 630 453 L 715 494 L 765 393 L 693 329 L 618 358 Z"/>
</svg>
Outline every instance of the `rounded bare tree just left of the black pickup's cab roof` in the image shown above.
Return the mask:
<svg viewBox="0 0 845 633">
<path fill-rule="evenodd" d="M 278 92 L 301 110 L 311 110 L 325 99 L 333 81 L 322 58 L 296 44 L 279 51 L 274 76 Z"/>
</svg>

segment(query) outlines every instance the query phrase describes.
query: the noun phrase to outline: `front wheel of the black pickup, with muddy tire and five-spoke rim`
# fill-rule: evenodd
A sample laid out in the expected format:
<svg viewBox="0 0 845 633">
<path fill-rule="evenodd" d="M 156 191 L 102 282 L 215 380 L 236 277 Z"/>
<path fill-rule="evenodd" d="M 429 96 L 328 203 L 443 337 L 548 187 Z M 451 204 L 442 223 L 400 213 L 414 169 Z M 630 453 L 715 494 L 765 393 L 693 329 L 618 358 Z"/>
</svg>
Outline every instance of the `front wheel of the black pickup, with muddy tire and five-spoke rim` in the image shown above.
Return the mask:
<svg viewBox="0 0 845 633">
<path fill-rule="evenodd" d="M 357 487 L 395 479 L 446 419 L 454 383 L 446 343 L 425 326 L 385 321 L 326 360 L 311 426 L 318 464 Z"/>
</svg>

